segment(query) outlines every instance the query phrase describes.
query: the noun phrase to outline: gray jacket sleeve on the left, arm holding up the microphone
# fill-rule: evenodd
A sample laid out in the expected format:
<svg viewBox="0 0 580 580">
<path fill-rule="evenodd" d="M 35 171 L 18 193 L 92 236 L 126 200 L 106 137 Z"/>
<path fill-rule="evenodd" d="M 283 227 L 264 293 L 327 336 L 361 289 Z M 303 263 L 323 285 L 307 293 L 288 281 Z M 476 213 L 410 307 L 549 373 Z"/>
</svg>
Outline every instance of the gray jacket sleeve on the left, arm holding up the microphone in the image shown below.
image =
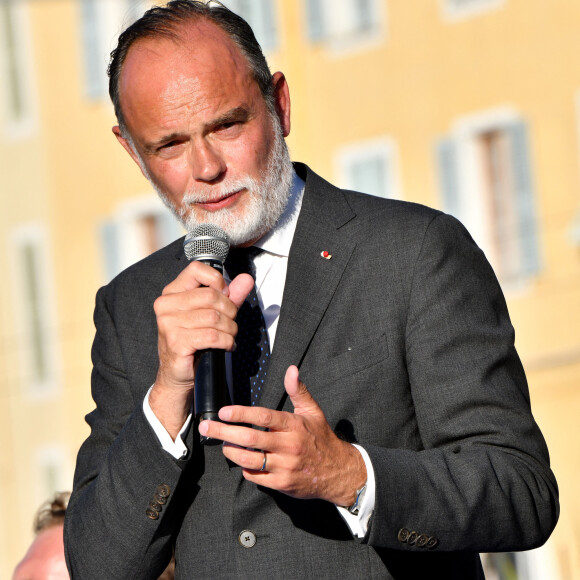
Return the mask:
<svg viewBox="0 0 580 580">
<path fill-rule="evenodd" d="M 157 578 L 171 557 L 173 499 L 187 462 L 163 451 L 131 390 L 109 293 L 105 287 L 97 295 L 96 409 L 87 415 L 91 434 L 78 455 L 67 510 L 67 565 L 72 578 Z"/>
</svg>

